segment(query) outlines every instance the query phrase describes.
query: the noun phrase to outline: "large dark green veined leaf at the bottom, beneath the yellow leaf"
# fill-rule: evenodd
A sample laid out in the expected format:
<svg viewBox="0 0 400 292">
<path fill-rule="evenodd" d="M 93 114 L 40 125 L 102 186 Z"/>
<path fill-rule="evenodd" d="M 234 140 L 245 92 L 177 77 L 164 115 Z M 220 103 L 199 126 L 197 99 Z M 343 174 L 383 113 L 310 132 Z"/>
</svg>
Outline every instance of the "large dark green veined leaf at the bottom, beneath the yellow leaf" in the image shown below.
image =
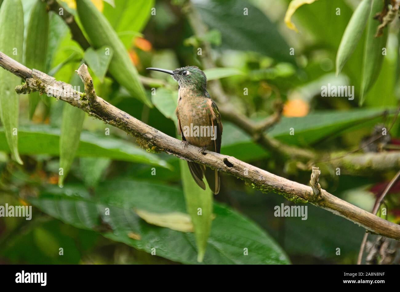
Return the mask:
<svg viewBox="0 0 400 292">
<path fill-rule="evenodd" d="M 98 190 L 98 191 L 97 191 Z M 77 228 L 96 230 L 106 238 L 136 249 L 182 262 L 197 263 L 192 232 L 154 226 L 133 210 L 185 212 L 182 190 L 156 183 L 108 181 L 91 196 L 84 188 L 49 188 L 28 201 L 43 212 Z M 95 199 L 92 199 L 92 198 Z M 105 215 L 109 208 L 109 215 Z M 221 204 L 214 204 L 213 228 L 204 256 L 205 264 L 288 264 L 276 242 L 260 227 Z M 133 239 L 136 238 L 136 239 Z M 244 255 L 244 249 L 248 255 Z"/>
</svg>

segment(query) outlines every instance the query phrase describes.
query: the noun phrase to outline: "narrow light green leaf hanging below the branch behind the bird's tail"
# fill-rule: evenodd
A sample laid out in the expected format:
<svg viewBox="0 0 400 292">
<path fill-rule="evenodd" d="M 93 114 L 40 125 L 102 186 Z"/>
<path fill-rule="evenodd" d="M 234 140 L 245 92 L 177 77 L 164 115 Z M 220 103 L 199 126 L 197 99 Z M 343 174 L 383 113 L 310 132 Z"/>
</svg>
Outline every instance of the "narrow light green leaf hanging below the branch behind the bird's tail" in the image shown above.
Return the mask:
<svg viewBox="0 0 400 292">
<path fill-rule="evenodd" d="M 207 182 L 206 190 L 203 190 L 196 184 L 185 160 L 180 159 L 179 165 L 186 210 L 192 219 L 194 234 L 196 236 L 197 261 L 202 262 L 211 229 L 212 192 Z"/>
</svg>

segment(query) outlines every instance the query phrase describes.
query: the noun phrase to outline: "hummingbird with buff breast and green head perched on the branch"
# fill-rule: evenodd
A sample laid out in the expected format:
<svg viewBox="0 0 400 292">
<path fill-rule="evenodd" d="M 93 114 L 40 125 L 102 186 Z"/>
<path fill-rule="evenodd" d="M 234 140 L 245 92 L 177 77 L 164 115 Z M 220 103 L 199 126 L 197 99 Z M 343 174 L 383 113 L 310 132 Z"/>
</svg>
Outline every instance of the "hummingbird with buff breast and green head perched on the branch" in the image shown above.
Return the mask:
<svg viewBox="0 0 400 292">
<path fill-rule="evenodd" d="M 218 106 L 207 92 L 206 74 L 196 66 L 186 66 L 175 70 L 146 69 L 170 74 L 178 82 L 178 106 L 175 113 L 178 117 L 178 134 L 185 143 L 184 148 L 190 143 L 200 147 L 203 154 L 204 150 L 220 153 L 221 115 Z M 220 191 L 218 170 L 189 161 L 188 166 L 190 174 L 200 188 L 206 189 L 203 181 L 203 177 L 205 177 L 212 192 L 218 194 Z"/>
</svg>

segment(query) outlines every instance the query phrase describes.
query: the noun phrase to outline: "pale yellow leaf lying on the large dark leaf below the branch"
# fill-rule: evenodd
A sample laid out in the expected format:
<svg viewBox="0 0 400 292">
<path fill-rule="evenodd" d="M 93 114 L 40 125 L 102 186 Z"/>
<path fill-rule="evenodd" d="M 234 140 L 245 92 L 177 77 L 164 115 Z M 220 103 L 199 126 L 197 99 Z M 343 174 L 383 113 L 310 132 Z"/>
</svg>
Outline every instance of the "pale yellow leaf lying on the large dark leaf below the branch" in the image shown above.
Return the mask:
<svg viewBox="0 0 400 292">
<path fill-rule="evenodd" d="M 180 212 L 153 213 L 139 209 L 134 209 L 134 211 L 147 223 L 181 232 L 193 232 L 192 220 L 188 214 Z"/>
</svg>

